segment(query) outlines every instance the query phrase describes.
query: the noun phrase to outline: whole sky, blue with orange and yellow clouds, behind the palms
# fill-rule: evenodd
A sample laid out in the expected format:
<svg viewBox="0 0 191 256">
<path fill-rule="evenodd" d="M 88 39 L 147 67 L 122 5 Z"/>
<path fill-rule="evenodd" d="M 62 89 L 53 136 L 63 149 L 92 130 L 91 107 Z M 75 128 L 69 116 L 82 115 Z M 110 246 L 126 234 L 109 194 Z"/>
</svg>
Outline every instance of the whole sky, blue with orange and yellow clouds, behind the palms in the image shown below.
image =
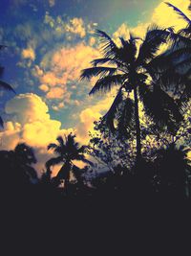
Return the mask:
<svg viewBox="0 0 191 256">
<path fill-rule="evenodd" d="M 169 0 L 183 12 L 190 0 Z M 16 91 L 0 91 L 0 149 L 25 142 L 42 164 L 47 145 L 75 132 L 88 143 L 88 131 L 106 112 L 113 93 L 88 95 L 94 81 L 80 81 L 80 71 L 99 58 L 94 34 L 103 30 L 115 40 L 129 31 L 143 37 L 149 24 L 179 29 L 183 21 L 161 0 L 1 0 L 0 53 L 3 81 Z"/>
</svg>

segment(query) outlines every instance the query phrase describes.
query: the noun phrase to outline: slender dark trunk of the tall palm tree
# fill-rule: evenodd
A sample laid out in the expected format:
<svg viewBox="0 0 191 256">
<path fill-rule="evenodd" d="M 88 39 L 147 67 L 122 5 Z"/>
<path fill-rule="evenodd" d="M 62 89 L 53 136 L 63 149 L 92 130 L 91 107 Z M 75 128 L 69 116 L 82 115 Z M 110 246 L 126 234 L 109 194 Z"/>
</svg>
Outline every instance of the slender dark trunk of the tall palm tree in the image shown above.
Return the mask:
<svg viewBox="0 0 191 256">
<path fill-rule="evenodd" d="M 140 141 L 140 123 L 138 113 L 138 90 L 137 86 L 134 88 L 134 100 L 135 100 L 135 120 L 136 120 L 136 137 L 137 137 L 137 161 L 141 157 L 141 141 Z"/>
</svg>

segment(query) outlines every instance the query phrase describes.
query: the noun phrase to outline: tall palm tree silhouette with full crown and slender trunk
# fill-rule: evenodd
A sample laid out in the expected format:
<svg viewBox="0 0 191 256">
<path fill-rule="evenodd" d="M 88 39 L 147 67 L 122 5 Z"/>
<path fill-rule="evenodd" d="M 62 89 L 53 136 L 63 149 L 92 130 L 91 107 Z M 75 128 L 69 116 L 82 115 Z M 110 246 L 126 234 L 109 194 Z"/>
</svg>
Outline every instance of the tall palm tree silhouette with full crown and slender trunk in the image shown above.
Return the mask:
<svg viewBox="0 0 191 256">
<path fill-rule="evenodd" d="M 96 35 L 103 45 L 103 58 L 93 60 L 91 68 L 82 70 L 81 79 L 90 80 L 98 76 L 90 94 L 108 92 L 114 85 L 118 86 L 117 96 L 104 119 L 112 131 L 115 130 L 117 111 L 120 113 L 118 124 L 126 127 L 135 124 L 138 160 L 141 157 L 139 102 L 159 124 L 172 127 L 173 119 L 180 122 L 182 118 L 173 99 L 161 88 L 162 81 L 157 72 L 157 63 L 161 62 L 159 46 L 166 43 L 169 31 L 151 26 L 143 40 L 132 34 L 128 40 L 120 37 L 120 46 L 102 31 L 97 30 Z M 141 41 L 140 46 L 138 40 Z"/>
</svg>

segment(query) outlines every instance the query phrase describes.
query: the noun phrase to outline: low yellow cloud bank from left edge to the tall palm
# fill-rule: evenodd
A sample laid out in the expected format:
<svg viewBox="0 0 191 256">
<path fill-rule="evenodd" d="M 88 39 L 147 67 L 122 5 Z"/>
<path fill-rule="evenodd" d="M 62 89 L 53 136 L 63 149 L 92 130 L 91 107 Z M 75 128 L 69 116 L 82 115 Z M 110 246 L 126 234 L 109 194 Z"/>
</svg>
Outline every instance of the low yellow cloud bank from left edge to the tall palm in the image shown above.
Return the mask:
<svg viewBox="0 0 191 256">
<path fill-rule="evenodd" d="M 1 150 L 13 150 L 18 143 L 26 143 L 34 148 L 37 155 L 37 170 L 39 175 L 44 169 L 44 163 L 53 157 L 47 151 L 47 146 L 55 142 L 59 135 L 74 133 L 81 144 L 88 143 L 88 131 L 93 130 L 94 121 L 100 112 L 106 110 L 111 102 L 102 100 L 92 108 L 81 111 L 79 123 L 75 128 L 61 128 L 61 122 L 53 120 L 49 114 L 49 107 L 36 94 L 19 94 L 12 98 L 5 107 L 10 121 L 0 132 Z"/>
</svg>

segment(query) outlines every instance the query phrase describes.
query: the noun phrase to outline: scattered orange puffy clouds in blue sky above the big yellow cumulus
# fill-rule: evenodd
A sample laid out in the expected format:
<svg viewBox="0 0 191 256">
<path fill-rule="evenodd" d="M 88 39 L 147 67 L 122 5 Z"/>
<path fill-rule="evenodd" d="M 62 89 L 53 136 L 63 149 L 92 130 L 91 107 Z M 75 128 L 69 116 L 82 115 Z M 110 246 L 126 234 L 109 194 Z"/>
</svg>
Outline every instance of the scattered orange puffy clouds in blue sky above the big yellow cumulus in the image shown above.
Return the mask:
<svg viewBox="0 0 191 256">
<path fill-rule="evenodd" d="M 87 24 L 80 17 L 53 17 L 46 12 L 38 28 L 35 23 L 27 22 L 14 30 L 14 36 L 26 42 L 25 48 L 14 47 L 20 54 L 17 65 L 25 69 L 28 84 L 38 84 L 40 94 L 52 103 L 54 110 L 79 105 L 74 90 L 80 71 L 99 57 L 93 36 L 96 25 Z M 80 91 L 82 96 L 83 90 Z"/>
</svg>

